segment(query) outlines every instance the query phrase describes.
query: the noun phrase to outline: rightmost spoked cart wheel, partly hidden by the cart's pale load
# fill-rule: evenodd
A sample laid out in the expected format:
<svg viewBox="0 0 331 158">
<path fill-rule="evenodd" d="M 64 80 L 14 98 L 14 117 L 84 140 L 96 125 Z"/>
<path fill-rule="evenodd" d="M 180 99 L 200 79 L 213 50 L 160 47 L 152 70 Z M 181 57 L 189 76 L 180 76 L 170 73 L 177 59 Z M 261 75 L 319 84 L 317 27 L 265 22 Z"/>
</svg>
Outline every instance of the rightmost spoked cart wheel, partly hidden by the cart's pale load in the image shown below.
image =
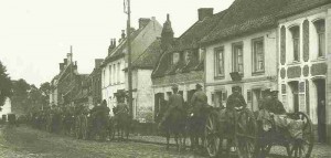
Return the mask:
<svg viewBox="0 0 331 158">
<path fill-rule="evenodd" d="M 292 139 L 287 146 L 287 154 L 290 158 L 309 158 L 313 147 L 311 120 L 301 112 L 295 113 L 293 116 L 303 122 L 302 138 Z"/>
</svg>

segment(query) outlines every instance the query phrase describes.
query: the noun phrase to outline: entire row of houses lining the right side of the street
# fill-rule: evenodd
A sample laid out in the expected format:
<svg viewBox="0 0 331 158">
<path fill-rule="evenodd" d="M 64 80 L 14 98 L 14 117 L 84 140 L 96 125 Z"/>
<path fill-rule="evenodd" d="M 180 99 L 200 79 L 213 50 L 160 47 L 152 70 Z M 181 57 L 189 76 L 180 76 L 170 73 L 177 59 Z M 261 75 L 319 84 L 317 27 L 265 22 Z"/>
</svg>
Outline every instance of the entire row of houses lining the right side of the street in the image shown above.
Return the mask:
<svg viewBox="0 0 331 158">
<path fill-rule="evenodd" d="M 217 13 L 201 8 L 196 22 L 179 38 L 169 14 L 163 25 L 156 18 L 138 22 L 130 31 L 135 119 L 157 122 L 173 84 L 188 103 L 195 84 L 204 85 L 212 106 L 226 105 L 232 87 L 239 86 L 253 110 L 261 91 L 273 88 L 288 112 L 308 114 L 323 130 L 319 137 L 331 140 L 330 0 L 235 0 Z M 95 67 L 99 97 L 92 98 L 106 99 L 110 109 L 116 94 L 128 91 L 127 42 L 125 31 L 120 40 L 111 39 L 107 57 Z M 74 85 L 84 76 L 68 61 L 52 81 L 57 103 L 75 89 L 61 83 Z"/>
</svg>

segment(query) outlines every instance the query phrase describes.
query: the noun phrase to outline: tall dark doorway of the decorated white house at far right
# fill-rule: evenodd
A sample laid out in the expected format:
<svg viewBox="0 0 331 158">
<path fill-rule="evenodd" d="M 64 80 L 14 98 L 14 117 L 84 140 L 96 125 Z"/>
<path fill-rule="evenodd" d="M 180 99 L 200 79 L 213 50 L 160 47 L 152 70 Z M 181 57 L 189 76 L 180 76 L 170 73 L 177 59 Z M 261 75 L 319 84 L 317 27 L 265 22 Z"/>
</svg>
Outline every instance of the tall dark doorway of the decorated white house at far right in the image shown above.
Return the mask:
<svg viewBox="0 0 331 158">
<path fill-rule="evenodd" d="M 325 125 L 325 80 L 314 80 L 317 89 L 317 112 L 318 112 L 318 137 L 320 143 L 327 139 L 327 125 Z"/>
</svg>

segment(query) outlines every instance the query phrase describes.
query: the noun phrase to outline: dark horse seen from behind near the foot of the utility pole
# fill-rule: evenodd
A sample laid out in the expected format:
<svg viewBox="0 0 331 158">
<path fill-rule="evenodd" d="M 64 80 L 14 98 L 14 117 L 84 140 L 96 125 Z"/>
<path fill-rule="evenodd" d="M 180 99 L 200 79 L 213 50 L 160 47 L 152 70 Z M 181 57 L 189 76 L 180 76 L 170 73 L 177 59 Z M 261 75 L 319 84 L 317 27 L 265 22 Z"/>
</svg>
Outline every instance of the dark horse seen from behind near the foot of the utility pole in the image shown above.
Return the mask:
<svg viewBox="0 0 331 158">
<path fill-rule="evenodd" d="M 114 107 L 113 112 L 115 114 L 114 122 L 115 128 L 117 129 L 118 137 L 124 139 L 124 135 L 126 138 L 129 138 L 129 130 L 131 126 L 131 116 L 127 110 L 120 110 L 118 107 Z M 114 130 L 115 135 L 115 130 Z"/>
</svg>

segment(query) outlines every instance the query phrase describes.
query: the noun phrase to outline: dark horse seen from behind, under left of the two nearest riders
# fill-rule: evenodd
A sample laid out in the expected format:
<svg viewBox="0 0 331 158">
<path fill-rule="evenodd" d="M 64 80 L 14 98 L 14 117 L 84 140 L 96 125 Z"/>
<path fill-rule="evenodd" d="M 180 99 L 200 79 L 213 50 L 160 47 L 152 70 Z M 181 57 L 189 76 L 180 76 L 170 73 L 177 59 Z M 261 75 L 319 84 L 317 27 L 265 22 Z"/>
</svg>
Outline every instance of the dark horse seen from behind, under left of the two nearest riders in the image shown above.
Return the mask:
<svg viewBox="0 0 331 158">
<path fill-rule="evenodd" d="M 186 115 L 183 109 L 179 109 L 174 107 L 170 109 L 168 117 L 162 123 L 162 127 L 166 133 L 167 138 L 167 150 L 169 150 L 169 141 L 171 135 L 174 136 L 177 150 L 181 151 L 184 149 L 184 141 L 185 141 L 185 133 L 186 133 Z"/>
</svg>

